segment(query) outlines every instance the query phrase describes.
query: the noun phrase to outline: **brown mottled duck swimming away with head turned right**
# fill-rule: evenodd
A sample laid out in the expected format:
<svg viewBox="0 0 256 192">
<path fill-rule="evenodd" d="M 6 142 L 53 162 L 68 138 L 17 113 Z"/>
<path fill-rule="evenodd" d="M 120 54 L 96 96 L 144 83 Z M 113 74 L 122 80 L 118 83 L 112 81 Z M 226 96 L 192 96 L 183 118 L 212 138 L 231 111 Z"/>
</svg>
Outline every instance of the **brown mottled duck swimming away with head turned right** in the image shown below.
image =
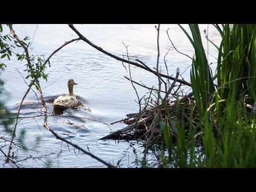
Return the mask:
<svg viewBox="0 0 256 192">
<path fill-rule="evenodd" d="M 61 95 L 57 99 L 53 101 L 53 107 L 54 108 L 69 108 L 69 107 L 76 107 L 78 104 L 78 101 L 76 99 L 76 95 L 73 93 L 73 87 L 74 85 L 77 85 L 77 83 L 74 82 L 73 79 L 68 80 L 68 94 L 67 95 Z"/>
</svg>

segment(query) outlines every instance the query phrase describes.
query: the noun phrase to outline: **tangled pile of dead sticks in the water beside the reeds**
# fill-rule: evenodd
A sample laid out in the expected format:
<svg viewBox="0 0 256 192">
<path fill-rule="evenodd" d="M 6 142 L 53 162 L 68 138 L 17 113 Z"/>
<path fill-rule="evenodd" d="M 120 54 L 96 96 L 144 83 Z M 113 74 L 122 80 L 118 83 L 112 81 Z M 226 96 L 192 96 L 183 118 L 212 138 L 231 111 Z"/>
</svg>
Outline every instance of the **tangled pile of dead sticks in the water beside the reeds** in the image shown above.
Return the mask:
<svg viewBox="0 0 256 192">
<path fill-rule="evenodd" d="M 188 94 L 190 97 L 183 97 L 177 101 L 171 101 L 167 100 L 166 102 L 166 109 L 162 109 L 162 119 L 163 123 L 166 123 L 169 127 L 169 130 L 172 132 L 173 138 L 175 139 L 175 133 L 174 130 L 171 129 L 171 122 L 170 119 L 173 121 L 178 122 L 185 122 L 185 131 L 189 129 L 189 121 L 192 121 L 192 124 L 196 126 L 196 124 L 199 122 L 199 116 L 197 113 L 197 108 L 195 106 L 194 98 L 192 97 L 192 94 Z M 193 119 L 190 120 L 190 115 L 194 113 Z M 158 108 L 155 105 L 154 107 L 149 107 L 141 111 L 140 119 L 135 127 L 135 121 L 138 118 L 138 114 L 135 116 L 132 116 L 129 119 L 122 119 L 118 122 L 122 122 L 127 124 L 128 126 L 124 127 L 123 129 L 120 129 L 118 131 L 115 131 L 113 133 L 110 133 L 106 135 L 105 137 L 100 138 L 103 139 L 126 139 L 126 140 L 133 140 L 133 139 L 143 139 L 147 141 L 149 139 L 149 135 L 151 131 L 153 130 L 153 123 L 154 119 L 157 117 L 157 111 Z M 182 113 L 183 113 L 183 119 L 182 119 Z M 162 131 L 160 130 L 159 123 L 156 122 L 156 127 L 153 134 L 153 140 L 156 140 L 158 137 L 163 138 Z"/>
</svg>

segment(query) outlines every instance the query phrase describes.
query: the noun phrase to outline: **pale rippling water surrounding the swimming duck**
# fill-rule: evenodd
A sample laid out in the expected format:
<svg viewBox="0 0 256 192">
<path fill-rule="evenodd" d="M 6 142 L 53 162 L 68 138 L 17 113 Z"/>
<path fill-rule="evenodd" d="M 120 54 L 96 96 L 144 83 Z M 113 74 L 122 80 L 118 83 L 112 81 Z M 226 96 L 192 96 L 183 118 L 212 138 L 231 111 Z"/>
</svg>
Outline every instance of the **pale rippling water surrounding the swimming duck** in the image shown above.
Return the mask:
<svg viewBox="0 0 256 192">
<path fill-rule="evenodd" d="M 155 25 L 74 25 L 92 43 L 102 47 L 104 50 L 123 57 L 126 55 L 128 46 L 131 60 L 139 59 L 146 63 L 150 68 L 156 67 L 157 59 L 157 31 Z M 188 29 L 187 25 L 183 25 Z M 207 25 L 201 25 L 203 36 Z M 68 25 L 13 25 L 15 33 L 20 39 L 26 35 L 33 37 L 29 53 L 44 54 L 45 58 L 57 49 L 60 45 L 77 38 L 77 35 Z M 166 74 L 164 66 L 164 55 L 166 55 L 169 74 L 175 76 L 176 69 L 179 67 L 182 77 L 190 82 L 189 69 L 191 60 L 185 55 L 175 51 L 169 41 L 166 30 L 169 28 L 169 35 L 175 47 L 182 53 L 193 56 L 193 48 L 185 34 L 178 25 L 161 25 L 160 31 L 160 59 L 162 73 Z M 7 28 L 4 27 L 4 31 Z M 36 31 L 36 33 L 35 33 Z M 217 30 L 209 27 L 209 38 L 214 43 L 219 43 Z M 123 41 L 123 43 L 122 43 Z M 207 43 L 204 39 L 205 49 Z M 17 52 L 22 53 L 22 49 Z M 209 45 L 209 61 L 213 62 L 212 68 L 215 70 L 214 62 L 217 50 Z M 2 59 L 7 64 L 7 68 L 1 72 L 1 78 L 5 81 L 6 95 L 1 95 L 1 100 L 10 109 L 11 113 L 17 113 L 18 105 L 27 91 L 27 85 L 23 82 L 21 75 L 26 77 L 24 69 L 25 62 L 11 61 Z M 126 59 L 126 58 L 125 58 Z M 46 73 L 49 74 L 48 81 L 41 80 L 41 86 L 45 87 L 43 96 L 48 110 L 48 124 L 52 130 L 60 134 L 61 137 L 76 143 L 78 146 L 87 150 L 106 162 L 120 167 L 139 167 L 139 161 L 143 157 L 143 141 L 102 141 L 99 138 L 126 126 L 117 123 L 107 126 L 112 122 L 126 117 L 126 114 L 139 111 L 137 95 L 129 81 L 123 76 L 128 76 L 122 62 L 110 58 L 83 41 L 71 43 L 50 59 L 51 67 L 47 65 Z M 128 69 L 127 63 L 124 63 Z M 214 71 L 213 70 L 213 71 Z M 148 71 L 131 66 L 133 81 L 142 82 L 148 87 L 158 86 L 157 77 Z M 68 109 L 62 115 L 55 116 L 53 113 L 52 102 L 59 95 L 67 93 L 67 81 L 73 78 L 78 85 L 74 86 L 74 93 L 84 102 L 84 107 Z M 138 94 L 143 97 L 149 92 L 147 89 L 135 85 Z M 37 92 L 37 90 L 34 90 Z M 188 91 L 188 90 L 187 90 Z M 39 94 L 38 94 L 39 97 Z M 88 110 L 89 109 L 89 110 Z M 22 105 L 20 116 L 37 116 L 41 114 L 41 106 L 33 91 L 30 91 Z M 103 124 L 103 123 L 106 124 Z M 55 139 L 55 137 L 43 127 L 43 117 L 23 118 L 19 120 L 17 126 L 17 138 L 19 133 L 25 130 L 23 137 L 25 145 L 29 150 L 18 150 L 19 160 L 28 158 L 26 161 L 18 163 L 21 167 L 106 167 L 97 160 L 87 156 L 66 143 Z M 0 127 L 0 136 L 5 134 Z M 9 136 L 5 135 L 5 139 Z M 39 140 L 39 142 L 38 142 Z M 0 139 L 0 146 L 4 146 L 4 141 Z M 2 148 L 7 153 L 7 146 Z M 30 150 L 31 149 L 31 150 Z M 39 159 L 40 158 L 40 159 Z M 148 160 L 155 162 L 155 155 L 150 151 Z M 15 167 L 12 164 L 4 164 L 4 156 L 1 153 L 0 162 L 3 167 Z M 48 165 L 46 165 L 48 164 Z"/>
</svg>

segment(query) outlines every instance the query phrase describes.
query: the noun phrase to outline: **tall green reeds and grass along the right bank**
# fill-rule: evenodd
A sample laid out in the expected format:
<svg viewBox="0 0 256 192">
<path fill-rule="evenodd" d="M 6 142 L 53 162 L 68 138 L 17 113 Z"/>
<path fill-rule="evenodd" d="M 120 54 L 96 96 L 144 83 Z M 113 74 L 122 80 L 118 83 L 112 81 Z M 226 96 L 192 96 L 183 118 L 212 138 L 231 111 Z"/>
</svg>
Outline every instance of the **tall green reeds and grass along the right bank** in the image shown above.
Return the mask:
<svg viewBox="0 0 256 192">
<path fill-rule="evenodd" d="M 214 44 L 219 51 L 216 87 L 198 25 L 189 25 L 191 36 L 180 27 L 195 49 L 190 79 L 200 121 L 192 123 L 191 110 L 185 125 L 184 107 L 177 103 L 175 119 L 161 125 L 168 151 L 163 165 L 256 167 L 256 25 L 214 25 L 222 38 Z"/>
</svg>

